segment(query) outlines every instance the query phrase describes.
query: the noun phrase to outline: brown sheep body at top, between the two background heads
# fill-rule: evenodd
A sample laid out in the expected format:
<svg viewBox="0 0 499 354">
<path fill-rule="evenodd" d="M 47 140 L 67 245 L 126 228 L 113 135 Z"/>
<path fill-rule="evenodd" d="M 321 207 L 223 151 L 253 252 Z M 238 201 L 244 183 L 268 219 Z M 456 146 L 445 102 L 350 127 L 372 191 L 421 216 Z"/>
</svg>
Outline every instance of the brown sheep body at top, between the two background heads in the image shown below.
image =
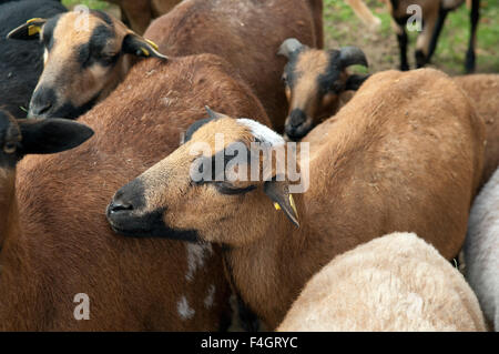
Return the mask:
<svg viewBox="0 0 499 354">
<path fill-rule="evenodd" d="M 287 38 L 323 48 L 322 16 L 322 0 L 190 0 L 153 21 L 144 36 L 165 54 L 213 53 L 226 59 L 282 132 L 287 114 L 281 83 L 285 58 L 277 51 Z"/>
</svg>

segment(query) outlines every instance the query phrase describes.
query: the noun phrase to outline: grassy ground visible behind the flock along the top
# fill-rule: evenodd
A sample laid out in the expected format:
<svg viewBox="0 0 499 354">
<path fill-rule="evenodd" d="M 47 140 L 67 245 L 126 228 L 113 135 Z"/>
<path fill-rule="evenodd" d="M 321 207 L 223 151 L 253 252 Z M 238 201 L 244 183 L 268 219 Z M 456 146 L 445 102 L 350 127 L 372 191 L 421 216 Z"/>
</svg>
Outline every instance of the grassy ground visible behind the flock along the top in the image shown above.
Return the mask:
<svg viewBox="0 0 499 354">
<path fill-rule="evenodd" d="M 68 7 L 84 3 L 92 9 L 110 10 L 110 4 L 101 0 L 63 0 L 62 2 Z M 366 3 L 381 19 L 381 28 L 378 31 L 367 29 L 344 0 L 324 0 L 326 48 L 352 44 L 361 48 L 369 60 L 370 72 L 398 68 L 398 44 L 390 27 L 387 8 L 379 0 L 367 0 Z M 114 13 L 116 12 L 113 11 Z M 499 1 L 482 0 L 480 14 L 477 72 L 499 72 Z M 413 45 L 409 47 L 408 57 L 414 65 L 416 34 L 409 33 L 409 36 Z M 450 74 L 462 73 L 468 38 L 469 11 L 461 6 L 447 18 L 432 58 L 432 67 Z"/>
</svg>

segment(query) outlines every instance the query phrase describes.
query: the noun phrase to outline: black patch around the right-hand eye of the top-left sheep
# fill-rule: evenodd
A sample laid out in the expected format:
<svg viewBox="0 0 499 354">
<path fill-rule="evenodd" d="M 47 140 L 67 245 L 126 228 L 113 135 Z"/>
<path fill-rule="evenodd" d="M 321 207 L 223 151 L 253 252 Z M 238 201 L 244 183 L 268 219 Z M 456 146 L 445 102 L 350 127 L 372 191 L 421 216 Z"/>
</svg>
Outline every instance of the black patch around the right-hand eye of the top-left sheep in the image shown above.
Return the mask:
<svg viewBox="0 0 499 354">
<path fill-rule="evenodd" d="M 114 38 L 114 32 L 105 24 L 99 24 L 94 28 L 89 42 L 81 44 L 77 49 L 78 62 L 82 70 L 92 67 L 95 63 L 99 63 L 102 67 L 110 67 L 116 63 L 120 52 L 114 53 L 113 55 L 104 54 L 106 43 L 112 38 Z"/>
</svg>

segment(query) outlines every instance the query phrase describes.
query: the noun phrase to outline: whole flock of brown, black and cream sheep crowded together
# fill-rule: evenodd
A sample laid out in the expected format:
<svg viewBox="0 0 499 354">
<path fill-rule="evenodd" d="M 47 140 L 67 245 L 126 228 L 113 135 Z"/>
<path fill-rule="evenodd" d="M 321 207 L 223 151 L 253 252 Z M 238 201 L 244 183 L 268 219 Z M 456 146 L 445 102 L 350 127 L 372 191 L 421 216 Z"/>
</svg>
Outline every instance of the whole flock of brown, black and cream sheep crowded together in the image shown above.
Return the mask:
<svg viewBox="0 0 499 354">
<path fill-rule="evenodd" d="M 112 2 L 0 1 L 0 330 L 499 328 L 498 74 L 353 74 L 322 0 Z M 422 67 L 464 1 L 411 2 Z M 198 143 L 287 141 L 304 193 L 192 179 Z"/>
</svg>

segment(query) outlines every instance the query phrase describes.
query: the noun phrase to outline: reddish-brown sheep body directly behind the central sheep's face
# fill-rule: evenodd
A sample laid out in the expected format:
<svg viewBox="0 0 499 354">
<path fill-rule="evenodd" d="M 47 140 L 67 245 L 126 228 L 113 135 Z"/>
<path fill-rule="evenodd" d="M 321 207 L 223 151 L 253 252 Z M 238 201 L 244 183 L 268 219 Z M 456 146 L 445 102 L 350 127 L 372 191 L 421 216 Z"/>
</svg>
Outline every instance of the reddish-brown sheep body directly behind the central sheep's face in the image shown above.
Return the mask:
<svg viewBox="0 0 499 354">
<path fill-rule="evenodd" d="M 125 240 L 103 213 L 120 185 L 179 145 L 205 104 L 268 123 L 218 57 L 151 59 L 79 119 L 94 130 L 91 143 L 19 163 L 23 222 L 1 251 L 0 330 L 226 328 L 231 292 L 216 245 Z M 73 317 L 79 293 L 89 295 L 89 321 Z"/>
</svg>

